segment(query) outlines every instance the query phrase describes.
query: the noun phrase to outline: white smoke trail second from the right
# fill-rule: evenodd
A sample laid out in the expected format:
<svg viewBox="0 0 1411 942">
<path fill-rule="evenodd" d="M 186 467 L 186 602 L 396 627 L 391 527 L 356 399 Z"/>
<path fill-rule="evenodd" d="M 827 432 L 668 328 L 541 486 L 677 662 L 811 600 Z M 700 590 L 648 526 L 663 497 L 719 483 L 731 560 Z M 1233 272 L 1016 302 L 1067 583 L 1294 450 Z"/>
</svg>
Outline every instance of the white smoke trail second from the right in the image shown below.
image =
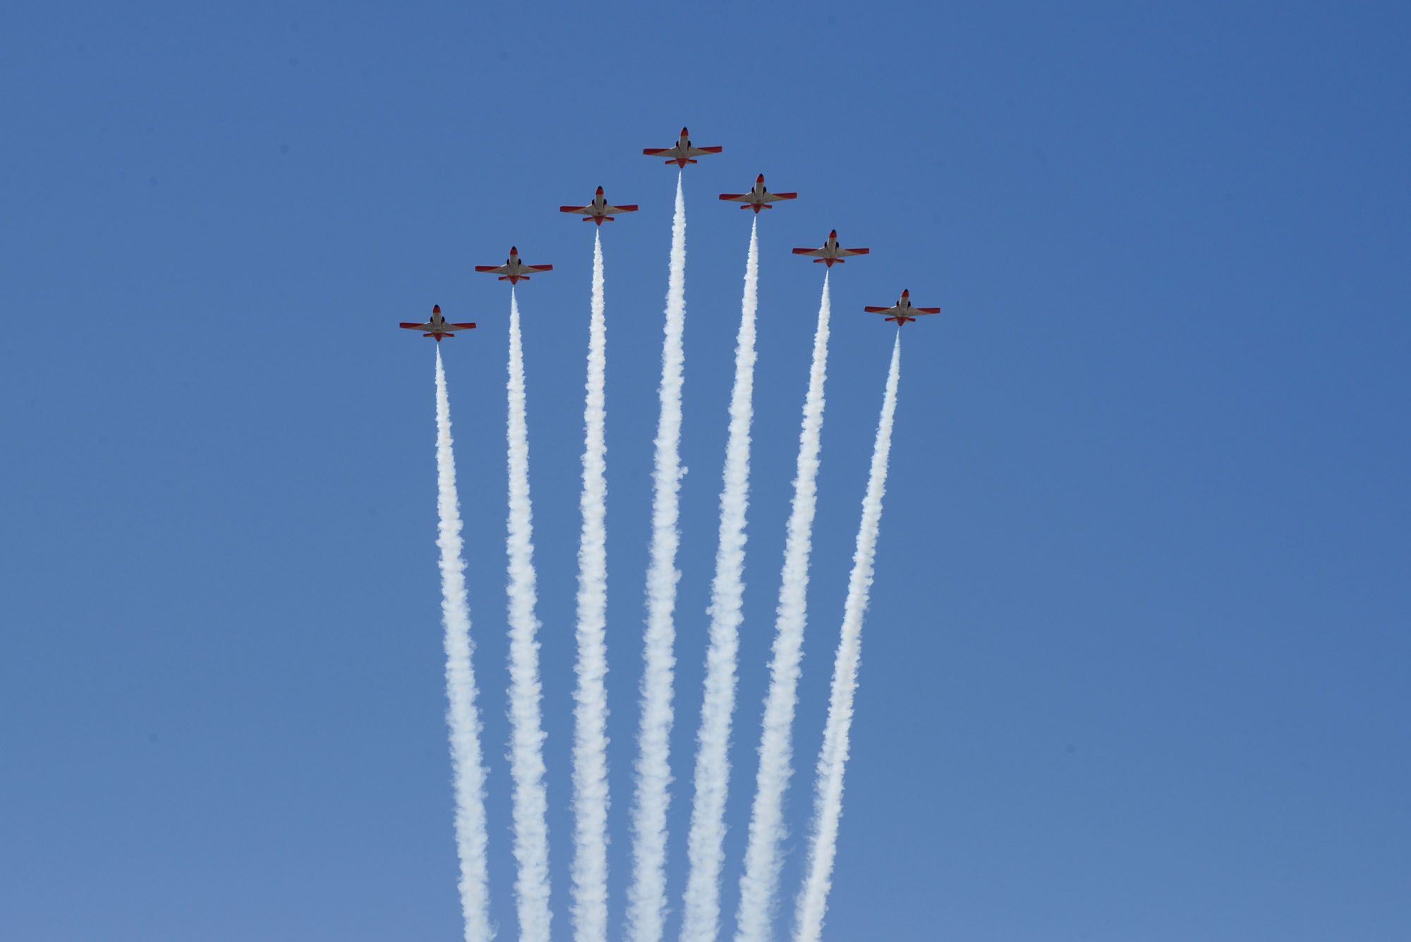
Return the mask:
<svg viewBox="0 0 1411 942">
<path fill-rule="evenodd" d="M 809 396 L 799 433 L 799 464 L 793 508 L 785 542 L 785 565 L 779 581 L 775 647 L 769 663 L 769 694 L 765 698 L 763 732 L 759 740 L 759 774 L 749 816 L 745 874 L 739 880 L 738 942 L 768 942 L 775 890 L 779 884 L 779 843 L 785 836 L 783 797 L 792 774 L 794 702 L 799 687 L 799 659 L 807 620 L 809 553 L 813 543 L 813 515 L 817 505 L 818 447 L 823 432 L 823 385 L 828 367 L 828 276 L 823 278 L 818 329 L 813 336 L 813 365 Z"/>
</svg>

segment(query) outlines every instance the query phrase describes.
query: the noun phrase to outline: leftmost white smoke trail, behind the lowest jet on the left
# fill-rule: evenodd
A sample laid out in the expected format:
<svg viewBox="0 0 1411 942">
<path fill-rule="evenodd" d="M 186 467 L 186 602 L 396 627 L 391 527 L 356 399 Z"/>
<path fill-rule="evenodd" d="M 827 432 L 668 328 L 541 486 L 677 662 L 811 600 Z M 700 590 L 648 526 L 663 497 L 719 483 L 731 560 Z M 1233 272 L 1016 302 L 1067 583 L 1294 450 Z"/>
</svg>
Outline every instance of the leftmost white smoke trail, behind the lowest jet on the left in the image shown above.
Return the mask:
<svg viewBox="0 0 1411 942">
<path fill-rule="evenodd" d="M 450 437 L 450 399 L 446 371 L 436 350 L 436 546 L 440 547 L 442 620 L 446 623 L 446 726 L 456 783 L 456 852 L 460 857 L 460 908 L 466 942 L 487 942 L 490 888 L 485 879 L 485 767 L 480 757 L 480 714 L 470 654 L 470 604 L 466 563 L 461 560 L 460 501 L 456 496 L 456 455 Z"/>
</svg>

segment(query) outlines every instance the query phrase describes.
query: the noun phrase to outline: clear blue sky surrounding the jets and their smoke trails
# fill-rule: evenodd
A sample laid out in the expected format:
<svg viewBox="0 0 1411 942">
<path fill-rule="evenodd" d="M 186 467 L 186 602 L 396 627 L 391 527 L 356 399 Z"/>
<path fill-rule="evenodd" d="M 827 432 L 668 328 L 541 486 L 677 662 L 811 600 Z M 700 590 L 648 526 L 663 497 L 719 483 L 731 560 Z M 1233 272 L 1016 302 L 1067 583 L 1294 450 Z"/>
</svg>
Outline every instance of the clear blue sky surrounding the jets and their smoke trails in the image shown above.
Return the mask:
<svg viewBox="0 0 1411 942">
<path fill-rule="evenodd" d="M 749 214 L 753 503 L 724 908 L 837 227 L 780 926 L 893 329 L 832 939 L 1411 938 L 1411 13 L 1397 3 L 11 3 L 0 14 L 0 936 L 452 939 L 430 343 L 514 938 L 505 286 L 556 938 L 604 226 L 612 924 L 682 124 L 670 895 Z"/>
</svg>

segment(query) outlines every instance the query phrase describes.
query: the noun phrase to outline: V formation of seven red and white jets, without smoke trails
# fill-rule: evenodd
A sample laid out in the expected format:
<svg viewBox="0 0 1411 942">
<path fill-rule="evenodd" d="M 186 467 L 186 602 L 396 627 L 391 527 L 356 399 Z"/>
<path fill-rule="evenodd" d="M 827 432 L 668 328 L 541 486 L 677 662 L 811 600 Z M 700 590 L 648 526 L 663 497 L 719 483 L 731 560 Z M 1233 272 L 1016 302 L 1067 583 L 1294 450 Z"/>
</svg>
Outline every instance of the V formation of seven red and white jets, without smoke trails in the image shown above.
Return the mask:
<svg viewBox="0 0 1411 942">
<path fill-rule="evenodd" d="M 679 168 L 686 168 L 687 164 L 697 164 L 696 158 L 708 154 L 720 154 L 724 147 L 696 147 L 691 142 L 690 131 L 682 128 L 682 135 L 677 138 L 676 144 L 672 147 L 648 147 L 642 148 L 642 154 L 646 157 L 665 157 L 666 164 L 676 164 Z M 797 199 L 797 193 L 772 193 L 765 186 L 765 175 L 761 173 L 755 178 L 755 185 L 746 193 L 721 193 L 720 197 L 727 202 L 739 203 L 741 209 L 755 210 L 755 216 L 759 214 L 762 209 L 773 209 L 773 204 L 782 200 Z M 602 188 L 600 186 L 593 196 L 593 200 L 586 206 L 560 206 L 560 213 L 574 213 L 583 217 L 583 221 L 593 221 L 595 226 L 602 226 L 602 223 L 612 223 L 622 213 L 635 213 L 638 210 L 636 203 L 624 203 L 622 206 L 614 206 L 607 202 L 602 195 Z M 841 265 L 845 258 L 852 258 L 855 255 L 868 255 L 872 250 L 869 248 L 842 248 L 838 244 L 838 230 L 828 233 L 828 238 L 820 248 L 796 248 L 794 255 L 810 255 L 814 262 L 823 262 L 827 268 L 832 268 L 834 264 Z M 553 265 L 525 265 L 519 259 L 519 250 L 514 245 L 509 247 L 509 258 L 505 259 L 504 265 L 476 265 L 477 272 L 488 272 L 499 276 L 499 281 L 508 281 L 511 285 L 518 285 L 522 281 L 529 281 L 531 275 L 538 275 L 540 272 L 553 271 Z M 864 307 L 869 314 L 882 314 L 882 319 L 895 323 L 897 327 L 916 320 L 919 314 L 938 314 L 940 307 L 916 307 L 912 305 L 912 292 L 903 290 L 902 296 L 890 307 Z M 446 322 L 440 313 L 440 305 L 432 306 L 432 319 L 423 324 L 402 322 L 398 324 L 406 330 L 420 330 L 423 337 L 432 337 L 436 343 L 440 343 L 443 337 L 454 337 L 459 330 L 473 329 L 476 324 L 463 323 L 453 324 Z"/>
</svg>

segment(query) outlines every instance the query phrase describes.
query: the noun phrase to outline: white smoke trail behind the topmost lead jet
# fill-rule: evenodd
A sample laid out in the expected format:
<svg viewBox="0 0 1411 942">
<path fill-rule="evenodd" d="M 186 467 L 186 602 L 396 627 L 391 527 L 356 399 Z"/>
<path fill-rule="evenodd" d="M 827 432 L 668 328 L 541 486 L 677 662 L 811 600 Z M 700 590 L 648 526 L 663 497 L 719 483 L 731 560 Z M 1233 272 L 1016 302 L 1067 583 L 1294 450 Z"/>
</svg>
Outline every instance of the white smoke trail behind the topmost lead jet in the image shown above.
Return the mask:
<svg viewBox="0 0 1411 942">
<path fill-rule="evenodd" d="M 636 942 L 658 942 L 666 918 L 666 807 L 672 783 L 672 646 L 676 625 L 677 491 L 682 484 L 677 446 L 682 437 L 682 382 L 686 355 L 686 197 L 676 178 L 672 216 L 672 264 L 666 288 L 662 343 L 662 412 L 656 422 L 656 470 L 652 496 L 652 561 L 646 571 L 646 636 L 642 671 L 642 722 L 638 729 L 636 795 L 632 815 L 632 887 L 628 932 Z"/>
</svg>

